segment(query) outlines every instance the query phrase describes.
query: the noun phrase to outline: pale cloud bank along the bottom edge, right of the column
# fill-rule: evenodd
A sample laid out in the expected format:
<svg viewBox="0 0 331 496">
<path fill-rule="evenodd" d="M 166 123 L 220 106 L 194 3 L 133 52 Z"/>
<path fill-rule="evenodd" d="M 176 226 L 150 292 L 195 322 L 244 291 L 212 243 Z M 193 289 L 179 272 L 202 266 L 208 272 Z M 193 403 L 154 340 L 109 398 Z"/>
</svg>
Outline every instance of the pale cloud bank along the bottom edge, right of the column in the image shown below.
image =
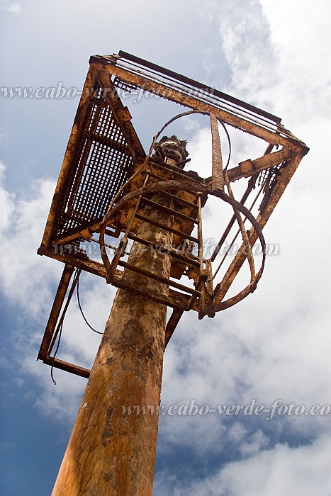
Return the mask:
<svg viewBox="0 0 331 496">
<path fill-rule="evenodd" d="M 159 473 L 155 496 L 328 496 L 331 474 L 330 436 L 320 436 L 310 446 L 290 448 L 277 444 L 251 458 L 228 463 L 225 468 L 202 481 L 183 485 L 181 481 Z"/>
</svg>

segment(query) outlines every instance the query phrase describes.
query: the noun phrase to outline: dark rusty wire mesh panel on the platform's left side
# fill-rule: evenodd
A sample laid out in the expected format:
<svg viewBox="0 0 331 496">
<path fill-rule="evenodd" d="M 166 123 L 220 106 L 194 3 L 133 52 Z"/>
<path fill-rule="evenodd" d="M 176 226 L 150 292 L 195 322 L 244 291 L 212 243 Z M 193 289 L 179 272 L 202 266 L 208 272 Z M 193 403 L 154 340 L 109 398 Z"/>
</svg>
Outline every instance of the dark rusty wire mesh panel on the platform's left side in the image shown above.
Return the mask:
<svg viewBox="0 0 331 496">
<path fill-rule="evenodd" d="M 101 220 L 133 166 L 125 137 L 100 87 L 89 103 L 76 157 L 57 217 L 57 237 Z"/>
</svg>

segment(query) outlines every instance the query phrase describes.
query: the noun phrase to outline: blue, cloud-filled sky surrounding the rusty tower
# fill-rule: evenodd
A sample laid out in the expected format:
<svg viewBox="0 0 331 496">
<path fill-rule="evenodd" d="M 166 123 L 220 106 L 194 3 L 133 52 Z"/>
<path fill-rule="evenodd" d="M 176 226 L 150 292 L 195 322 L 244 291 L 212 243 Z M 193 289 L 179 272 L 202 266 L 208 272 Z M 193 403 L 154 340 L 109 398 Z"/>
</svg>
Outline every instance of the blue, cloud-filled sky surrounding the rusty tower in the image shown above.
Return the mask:
<svg viewBox="0 0 331 496">
<path fill-rule="evenodd" d="M 279 253 L 267 257 L 257 291 L 213 320 L 185 314 L 167 347 L 155 496 L 331 495 L 330 11 L 327 0 L 169 0 L 167 8 L 145 0 L 0 1 L 1 88 L 35 92 L 62 82 L 81 91 L 90 55 L 125 50 L 279 115 L 310 147 L 264 230 Z M 50 495 L 86 385 L 62 371 L 53 385 L 50 368 L 36 361 L 63 269 L 36 251 L 78 103 L 77 95 L 0 95 L 5 496 Z M 152 105 L 148 126 L 147 102 L 133 112 L 145 149 L 180 111 Z M 179 133 L 201 167 L 209 153 L 207 123 L 188 120 Z M 241 157 L 258 157 L 254 146 L 242 137 L 232 167 Z M 218 218 L 209 213 L 213 235 Z M 86 315 L 102 330 L 114 289 L 83 274 L 81 291 Z M 73 303 L 61 358 L 91 366 L 98 344 Z M 268 409 L 276 400 L 269 420 L 169 415 L 172 405 Z M 295 410 L 299 405 L 308 415 Z"/>
</svg>

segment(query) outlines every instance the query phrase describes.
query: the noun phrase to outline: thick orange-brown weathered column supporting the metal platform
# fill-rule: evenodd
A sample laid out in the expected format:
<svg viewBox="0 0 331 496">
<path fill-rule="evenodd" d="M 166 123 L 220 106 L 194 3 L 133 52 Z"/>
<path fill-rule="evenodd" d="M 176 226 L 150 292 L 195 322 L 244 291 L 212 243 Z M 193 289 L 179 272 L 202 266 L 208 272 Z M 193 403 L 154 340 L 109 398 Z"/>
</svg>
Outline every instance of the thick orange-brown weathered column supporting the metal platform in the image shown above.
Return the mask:
<svg viewBox="0 0 331 496">
<path fill-rule="evenodd" d="M 170 206 L 162 193 L 153 199 Z M 145 215 L 172 226 L 158 209 Z M 172 233 L 148 223 L 138 236 L 172 244 Z M 169 255 L 145 245 L 133 244 L 129 262 L 169 276 Z M 167 294 L 167 285 L 132 271 L 123 277 Z M 152 495 L 166 316 L 164 305 L 117 291 L 52 496 Z"/>
</svg>

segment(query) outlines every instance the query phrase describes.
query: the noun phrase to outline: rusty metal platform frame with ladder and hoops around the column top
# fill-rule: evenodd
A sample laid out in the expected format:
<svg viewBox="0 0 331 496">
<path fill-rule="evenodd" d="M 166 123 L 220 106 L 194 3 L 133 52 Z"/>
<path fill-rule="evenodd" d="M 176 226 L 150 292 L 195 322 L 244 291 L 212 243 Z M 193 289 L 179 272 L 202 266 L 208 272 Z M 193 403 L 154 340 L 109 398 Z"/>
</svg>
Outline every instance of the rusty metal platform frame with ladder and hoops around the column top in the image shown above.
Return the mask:
<svg viewBox="0 0 331 496">
<path fill-rule="evenodd" d="M 47 219 L 43 241 L 38 254 L 64 262 L 64 271 L 47 322 L 38 359 L 57 368 L 89 377 L 89 370 L 56 359 L 52 348 L 57 339 L 64 313 L 74 291 L 69 288 L 74 269 L 89 271 L 117 288 L 158 301 L 172 308 L 166 328 L 165 345 L 184 311 L 196 310 L 199 318 L 213 317 L 215 312 L 228 308 L 254 291 L 261 277 L 262 266 L 255 271 L 251 247 L 260 239 L 264 247 L 262 229 L 284 193 L 308 147 L 292 135 L 281 119 L 221 91 L 193 81 L 126 52 L 90 59 L 72 133 L 57 181 L 55 195 Z M 152 155 L 157 135 L 146 154 L 131 123 L 130 111 L 120 100 L 120 91 L 148 91 L 166 98 L 189 112 L 210 116 L 212 135 L 212 176 L 206 179 L 167 164 L 161 156 Z M 267 143 L 267 150 L 258 159 L 248 159 L 236 167 L 223 168 L 218 123 L 230 125 Z M 162 128 L 163 130 L 163 128 Z M 160 133 L 159 133 L 160 134 Z M 276 151 L 274 147 L 277 148 Z M 258 178 L 263 177 L 262 203 L 257 219 L 245 201 Z M 248 186 L 240 201 L 232 195 L 231 184 L 248 178 Z M 225 190 L 228 192 L 226 193 Z M 173 208 L 158 205 L 152 195 L 162 191 L 172 197 Z M 233 208 L 233 215 L 221 235 L 211 259 L 203 258 L 201 208 L 208 196 L 216 196 Z M 128 239 L 139 244 L 147 242 L 137 236 L 139 222 L 150 222 L 144 215 L 146 205 L 163 209 L 173 215 L 175 222 L 172 247 L 153 245 L 153 249 L 167 250 L 172 255 L 172 278 L 160 280 L 155 274 L 131 266 L 123 260 Z M 245 219 L 252 227 L 247 232 Z M 238 222 L 242 246 L 228 267 L 222 281 L 213 288 L 211 264 L 215 260 L 232 226 Z M 160 228 L 164 226 L 159 226 Z M 196 235 L 192 235 L 196 228 Z M 89 259 L 81 242 L 99 233 L 103 263 Z M 110 261 L 106 254 L 105 235 L 120 237 Z M 189 249 L 196 245 L 197 254 Z M 148 244 L 149 246 L 149 244 Z M 60 249 L 59 249 L 60 247 Z M 183 250 L 183 247 L 185 249 Z M 245 259 L 249 261 L 251 279 L 238 295 L 224 300 L 228 289 Z M 142 293 L 141 289 L 123 278 L 120 268 L 138 272 L 169 286 L 167 296 Z M 177 283 L 173 278 L 193 274 L 193 286 Z M 64 309 L 62 310 L 62 307 Z"/>
</svg>

